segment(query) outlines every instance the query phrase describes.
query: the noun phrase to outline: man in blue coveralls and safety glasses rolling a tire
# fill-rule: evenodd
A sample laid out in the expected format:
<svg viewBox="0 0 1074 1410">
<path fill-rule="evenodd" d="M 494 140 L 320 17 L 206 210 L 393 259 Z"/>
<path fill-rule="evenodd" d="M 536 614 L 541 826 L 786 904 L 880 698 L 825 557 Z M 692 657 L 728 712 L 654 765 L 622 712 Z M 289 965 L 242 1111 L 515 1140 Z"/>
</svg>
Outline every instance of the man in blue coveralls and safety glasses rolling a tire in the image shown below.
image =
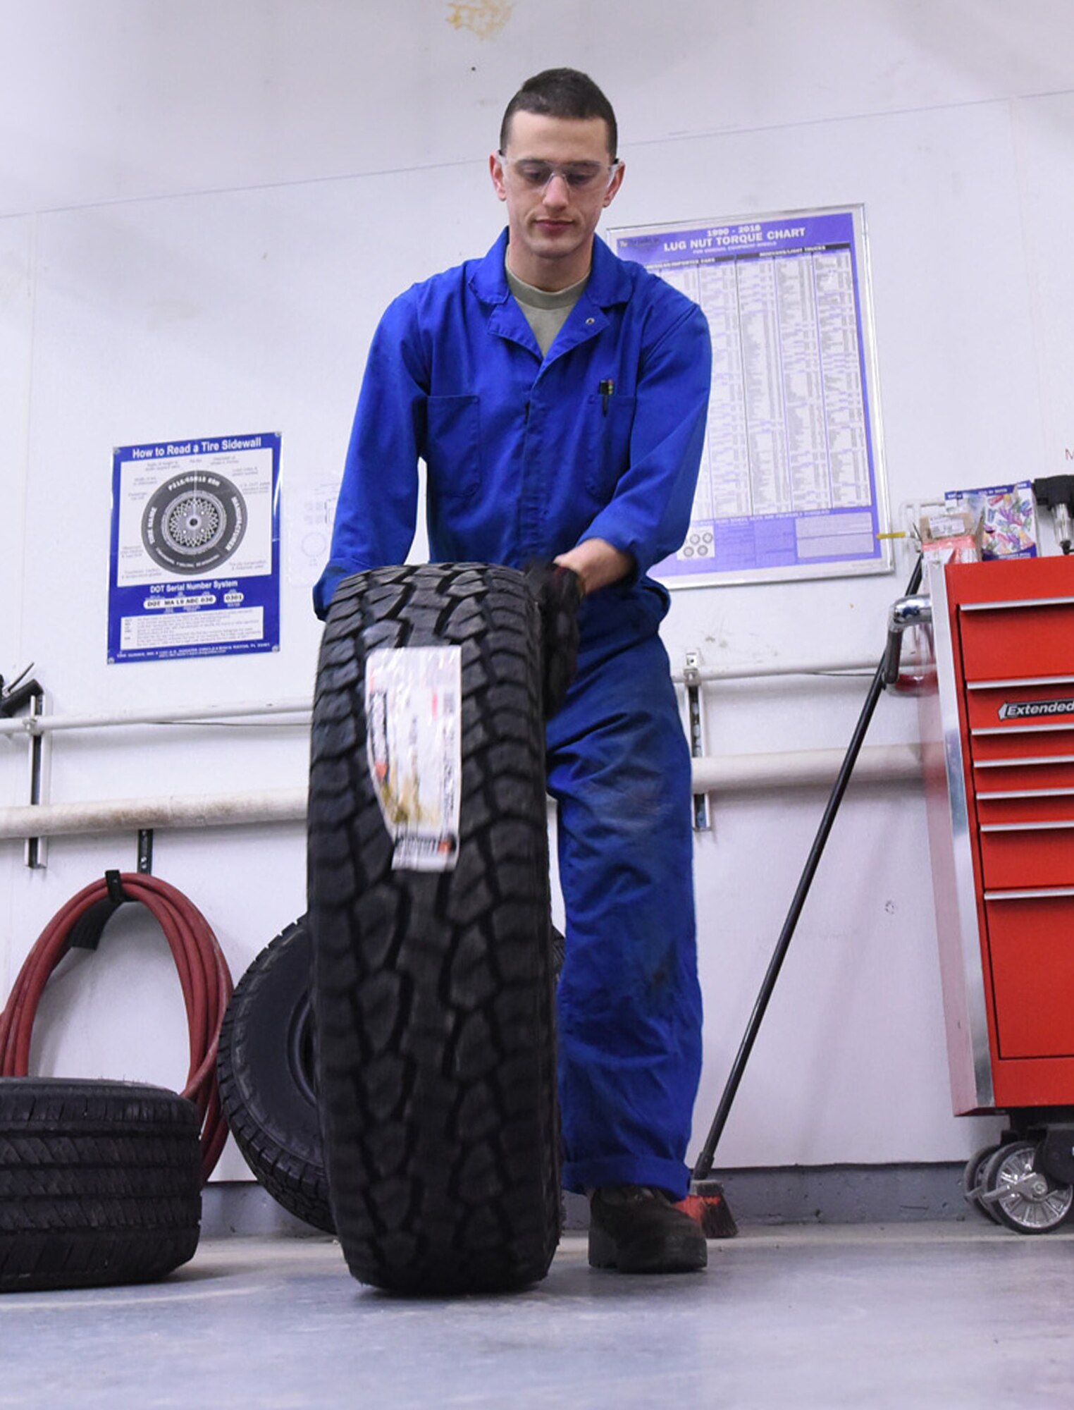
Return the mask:
<svg viewBox="0 0 1074 1410">
<path fill-rule="evenodd" d="M 324 616 L 342 578 L 405 561 L 419 457 L 434 561 L 576 575 L 578 668 L 547 725 L 564 1184 L 591 1197 L 593 1266 L 671 1273 L 706 1263 L 675 1208 L 700 991 L 689 753 L 658 636 L 668 595 L 646 574 L 686 532 L 712 354 L 700 309 L 595 234 L 623 182 L 616 141 L 574 69 L 512 99 L 489 158 L 507 230 L 385 313 L 314 603 Z"/>
</svg>

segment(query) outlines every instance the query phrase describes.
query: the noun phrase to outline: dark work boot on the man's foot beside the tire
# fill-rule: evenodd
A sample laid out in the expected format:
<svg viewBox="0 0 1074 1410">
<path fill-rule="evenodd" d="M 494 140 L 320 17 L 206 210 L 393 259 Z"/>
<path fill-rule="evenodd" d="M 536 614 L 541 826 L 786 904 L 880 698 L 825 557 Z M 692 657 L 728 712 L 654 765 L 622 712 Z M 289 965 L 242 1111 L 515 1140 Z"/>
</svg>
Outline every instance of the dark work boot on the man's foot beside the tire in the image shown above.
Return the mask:
<svg viewBox="0 0 1074 1410">
<path fill-rule="evenodd" d="M 695 1273 L 709 1262 L 700 1225 L 648 1184 L 606 1184 L 589 1200 L 589 1266 Z"/>
</svg>

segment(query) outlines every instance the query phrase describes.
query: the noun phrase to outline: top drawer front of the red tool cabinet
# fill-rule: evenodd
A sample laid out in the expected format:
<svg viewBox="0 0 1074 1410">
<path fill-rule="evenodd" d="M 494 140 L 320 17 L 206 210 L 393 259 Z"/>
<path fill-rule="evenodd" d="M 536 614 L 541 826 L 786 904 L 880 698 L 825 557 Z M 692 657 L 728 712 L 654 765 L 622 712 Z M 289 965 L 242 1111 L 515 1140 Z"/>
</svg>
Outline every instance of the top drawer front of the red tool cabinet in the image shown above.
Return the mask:
<svg viewBox="0 0 1074 1410">
<path fill-rule="evenodd" d="M 967 681 L 1074 675 L 1074 598 L 961 603 Z"/>
</svg>

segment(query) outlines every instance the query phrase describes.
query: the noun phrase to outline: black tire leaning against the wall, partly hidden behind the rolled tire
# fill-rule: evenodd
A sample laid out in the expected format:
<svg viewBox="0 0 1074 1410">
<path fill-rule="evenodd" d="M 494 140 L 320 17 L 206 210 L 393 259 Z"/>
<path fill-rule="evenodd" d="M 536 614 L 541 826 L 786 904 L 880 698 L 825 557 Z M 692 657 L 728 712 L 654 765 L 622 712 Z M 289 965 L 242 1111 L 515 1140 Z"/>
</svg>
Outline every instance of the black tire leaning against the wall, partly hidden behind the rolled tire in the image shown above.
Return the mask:
<svg viewBox="0 0 1074 1410">
<path fill-rule="evenodd" d="M 235 986 L 220 1029 L 220 1103 L 258 1182 L 297 1218 L 328 1234 L 310 1011 L 310 938 L 286 926 Z"/>
</svg>

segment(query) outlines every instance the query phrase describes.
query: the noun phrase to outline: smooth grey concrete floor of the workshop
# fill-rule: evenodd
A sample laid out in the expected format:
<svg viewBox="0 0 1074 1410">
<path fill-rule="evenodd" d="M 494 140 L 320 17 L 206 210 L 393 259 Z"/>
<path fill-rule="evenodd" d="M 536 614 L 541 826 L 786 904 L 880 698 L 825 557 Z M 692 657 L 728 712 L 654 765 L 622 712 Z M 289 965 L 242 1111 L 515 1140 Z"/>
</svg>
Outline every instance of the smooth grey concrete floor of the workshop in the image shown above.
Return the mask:
<svg viewBox="0 0 1074 1410">
<path fill-rule="evenodd" d="M 203 1239 L 163 1283 L 0 1299 L 0 1406 L 1074 1404 L 1074 1232 L 747 1227 L 709 1252 L 630 1279 L 574 1234 L 530 1292 L 406 1301 L 328 1239 Z"/>
</svg>

